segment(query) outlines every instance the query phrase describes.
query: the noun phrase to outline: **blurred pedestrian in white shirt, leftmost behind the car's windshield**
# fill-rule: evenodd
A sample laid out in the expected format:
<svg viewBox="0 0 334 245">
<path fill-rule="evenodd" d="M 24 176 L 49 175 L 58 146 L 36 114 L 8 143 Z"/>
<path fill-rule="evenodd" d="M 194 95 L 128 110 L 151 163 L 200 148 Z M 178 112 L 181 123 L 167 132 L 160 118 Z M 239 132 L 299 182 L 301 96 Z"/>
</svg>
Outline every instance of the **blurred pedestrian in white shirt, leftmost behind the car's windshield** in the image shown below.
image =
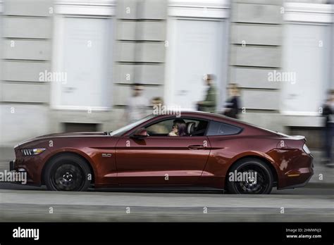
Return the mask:
<svg viewBox="0 0 334 245">
<path fill-rule="evenodd" d="M 126 119 L 129 123 L 144 118 L 149 106 L 148 100 L 142 95 L 142 84 L 135 83 L 132 86 L 132 96 L 128 99 L 126 107 Z"/>
</svg>

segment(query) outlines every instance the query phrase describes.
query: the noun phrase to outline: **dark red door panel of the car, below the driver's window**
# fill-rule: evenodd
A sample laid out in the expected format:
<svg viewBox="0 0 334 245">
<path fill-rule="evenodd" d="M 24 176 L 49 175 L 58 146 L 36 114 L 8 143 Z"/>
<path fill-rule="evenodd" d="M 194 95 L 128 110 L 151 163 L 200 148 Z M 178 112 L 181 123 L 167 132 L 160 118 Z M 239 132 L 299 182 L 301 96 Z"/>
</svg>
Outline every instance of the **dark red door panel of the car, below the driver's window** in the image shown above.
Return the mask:
<svg viewBox="0 0 334 245">
<path fill-rule="evenodd" d="M 121 137 L 116 145 L 119 184 L 195 184 L 211 146 L 206 136 Z"/>
</svg>

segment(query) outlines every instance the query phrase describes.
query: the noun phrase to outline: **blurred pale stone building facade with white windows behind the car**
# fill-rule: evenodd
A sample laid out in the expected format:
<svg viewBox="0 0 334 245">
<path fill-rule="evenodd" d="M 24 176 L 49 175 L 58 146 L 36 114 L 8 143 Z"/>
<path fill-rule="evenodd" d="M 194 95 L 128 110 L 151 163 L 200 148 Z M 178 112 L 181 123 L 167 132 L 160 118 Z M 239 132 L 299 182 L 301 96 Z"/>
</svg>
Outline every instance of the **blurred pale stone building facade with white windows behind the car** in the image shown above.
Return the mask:
<svg viewBox="0 0 334 245">
<path fill-rule="evenodd" d="M 203 75 L 240 119 L 321 147 L 334 7 L 293 0 L 0 0 L 0 146 L 125 125 L 131 84 L 194 109 Z M 148 108 L 148 113 L 149 113 Z"/>
</svg>

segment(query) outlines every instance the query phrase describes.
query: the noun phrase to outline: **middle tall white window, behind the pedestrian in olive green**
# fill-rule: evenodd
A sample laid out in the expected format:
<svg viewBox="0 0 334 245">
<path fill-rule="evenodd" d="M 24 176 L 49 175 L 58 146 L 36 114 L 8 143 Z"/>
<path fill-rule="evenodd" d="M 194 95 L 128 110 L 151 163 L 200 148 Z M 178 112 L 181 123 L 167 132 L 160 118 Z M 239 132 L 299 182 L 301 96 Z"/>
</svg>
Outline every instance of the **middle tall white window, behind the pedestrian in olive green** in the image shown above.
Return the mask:
<svg viewBox="0 0 334 245">
<path fill-rule="evenodd" d="M 191 2 L 191 1 L 190 1 Z M 203 7 L 170 1 L 166 49 L 166 103 L 196 109 L 206 94 L 205 74 L 214 74 L 218 94 L 225 94 L 228 53 L 228 4 Z M 217 96 L 218 107 L 223 103 Z"/>
</svg>

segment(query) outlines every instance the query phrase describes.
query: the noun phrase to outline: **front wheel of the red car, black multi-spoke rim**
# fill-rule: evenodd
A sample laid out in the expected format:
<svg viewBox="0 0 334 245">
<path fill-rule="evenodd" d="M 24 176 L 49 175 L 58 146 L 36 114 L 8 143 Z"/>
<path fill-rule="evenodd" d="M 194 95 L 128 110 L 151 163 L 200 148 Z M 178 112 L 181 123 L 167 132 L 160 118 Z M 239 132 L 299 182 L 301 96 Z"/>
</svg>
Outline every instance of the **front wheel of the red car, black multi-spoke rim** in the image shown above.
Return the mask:
<svg viewBox="0 0 334 245">
<path fill-rule="evenodd" d="M 86 191 L 91 180 L 86 161 L 69 153 L 51 159 L 44 171 L 44 182 L 50 191 Z"/>
</svg>

